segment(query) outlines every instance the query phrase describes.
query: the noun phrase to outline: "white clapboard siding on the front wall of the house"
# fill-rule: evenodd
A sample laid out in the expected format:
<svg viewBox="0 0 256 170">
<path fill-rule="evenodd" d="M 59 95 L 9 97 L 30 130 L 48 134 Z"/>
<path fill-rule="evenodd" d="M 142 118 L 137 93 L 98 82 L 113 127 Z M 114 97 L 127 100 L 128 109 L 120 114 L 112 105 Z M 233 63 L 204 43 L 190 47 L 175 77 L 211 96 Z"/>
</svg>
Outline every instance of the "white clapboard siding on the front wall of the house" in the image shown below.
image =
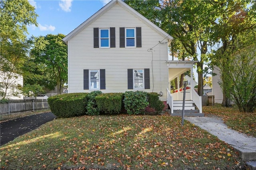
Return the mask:
<svg viewBox="0 0 256 170">
<path fill-rule="evenodd" d="M 115 27 L 116 48 L 93 48 L 94 27 Z M 142 27 L 142 48 L 120 48 L 120 27 Z M 84 69 L 105 69 L 106 90 L 101 91 L 108 93 L 128 91 L 128 68 L 150 68 L 150 89 L 143 91 L 157 93 L 162 91 L 164 94 L 162 100 L 166 100 L 166 88 L 168 88 L 168 69 L 166 65 L 166 60 L 168 60 L 168 45 L 167 43 L 158 44 L 163 39 L 163 42 L 166 42 L 167 39 L 165 38 L 130 12 L 126 11 L 119 4 L 116 4 L 68 41 L 69 93 L 90 92 L 90 90 L 83 89 Z M 154 47 L 155 45 L 157 46 Z M 148 51 L 152 47 L 154 47 L 152 52 L 153 58 L 152 53 Z M 153 64 L 151 64 L 152 62 Z"/>
</svg>

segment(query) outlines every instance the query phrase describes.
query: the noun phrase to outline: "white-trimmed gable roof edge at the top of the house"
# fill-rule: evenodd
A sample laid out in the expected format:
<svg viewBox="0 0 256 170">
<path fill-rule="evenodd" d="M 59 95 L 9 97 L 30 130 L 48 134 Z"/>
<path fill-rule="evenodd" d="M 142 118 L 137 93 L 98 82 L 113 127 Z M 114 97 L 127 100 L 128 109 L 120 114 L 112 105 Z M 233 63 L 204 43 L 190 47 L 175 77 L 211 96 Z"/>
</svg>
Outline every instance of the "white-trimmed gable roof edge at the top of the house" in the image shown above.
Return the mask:
<svg viewBox="0 0 256 170">
<path fill-rule="evenodd" d="M 160 27 L 156 26 L 154 23 L 149 21 L 147 18 L 142 16 L 140 13 L 138 13 L 136 10 L 134 10 L 132 7 L 127 5 L 125 2 L 122 0 L 112 0 L 108 4 L 106 4 L 103 8 L 98 10 L 94 15 L 92 15 L 90 18 L 88 18 L 86 21 L 84 21 L 81 25 L 76 27 L 73 31 L 71 31 L 66 37 L 62 39 L 64 43 L 68 44 L 68 41 L 72 39 L 74 36 L 76 36 L 78 33 L 80 33 L 84 28 L 86 28 L 88 25 L 90 25 L 92 22 L 97 20 L 100 16 L 102 16 L 104 13 L 106 13 L 110 8 L 115 6 L 116 4 L 122 6 L 125 10 L 130 12 L 132 15 L 134 15 L 136 18 L 138 18 L 140 21 L 148 25 L 150 28 L 152 28 L 154 31 L 162 35 L 163 37 L 166 37 L 168 39 L 168 45 L 170 45 L 170 41 L 173 39 L 171 35 L 163 31 Z"/>
</svg>

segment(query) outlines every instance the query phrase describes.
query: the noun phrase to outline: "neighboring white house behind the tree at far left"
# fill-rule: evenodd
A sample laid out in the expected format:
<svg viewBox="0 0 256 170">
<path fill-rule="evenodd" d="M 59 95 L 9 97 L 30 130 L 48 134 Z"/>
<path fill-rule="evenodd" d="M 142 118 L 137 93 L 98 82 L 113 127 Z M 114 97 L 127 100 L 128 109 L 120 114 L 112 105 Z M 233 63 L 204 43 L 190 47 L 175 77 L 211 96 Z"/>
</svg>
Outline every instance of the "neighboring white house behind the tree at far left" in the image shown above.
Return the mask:
<svg viewBox="0 0 256 170">
<path fill-rule="evenodd" d="M 21 90 L 17 87 L 23 87 L 23 76 L 16 73 L 8 73 L 0 71 L 0 91 L 6 90 L 6 99 L 23 99 L 23 94 Z M 2 96 L 0 96 L 2 99 Z"/>
</svg>

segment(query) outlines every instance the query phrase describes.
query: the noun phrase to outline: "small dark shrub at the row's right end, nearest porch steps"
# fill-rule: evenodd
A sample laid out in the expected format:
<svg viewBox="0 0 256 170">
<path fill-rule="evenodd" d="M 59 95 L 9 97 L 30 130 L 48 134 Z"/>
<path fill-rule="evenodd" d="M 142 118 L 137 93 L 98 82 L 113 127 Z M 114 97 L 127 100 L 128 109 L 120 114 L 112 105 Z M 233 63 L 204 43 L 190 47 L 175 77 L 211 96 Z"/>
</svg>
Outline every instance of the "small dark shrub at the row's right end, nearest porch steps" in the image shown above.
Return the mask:
<svg viewBox="0 0 256 170">
<path fill-rule="evenodd" d="M 149 107 L 154 108 L 157 113 L 164 109 L 164 103 L 159 100 L 158 93 L 148 93 Z"/>
</svg>

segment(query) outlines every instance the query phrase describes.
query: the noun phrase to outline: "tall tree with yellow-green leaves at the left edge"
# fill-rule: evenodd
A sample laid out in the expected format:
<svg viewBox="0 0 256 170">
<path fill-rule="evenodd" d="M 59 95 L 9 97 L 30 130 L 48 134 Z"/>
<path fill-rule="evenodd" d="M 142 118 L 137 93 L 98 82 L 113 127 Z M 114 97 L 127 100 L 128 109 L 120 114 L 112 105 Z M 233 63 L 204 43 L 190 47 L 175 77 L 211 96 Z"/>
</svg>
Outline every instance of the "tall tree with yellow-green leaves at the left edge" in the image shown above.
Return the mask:
<svg viewBox="0 0 256 170">
<path fill-rule="evenodd" d="M 19 88 L 14 82 L 32 45 L 27 26 L 37 26 L 37 14 L 27 0 L 1 0 L 0 9 L 0 83 L 1 98 L 5 98 L 8 88 Z"/>
</svg>

